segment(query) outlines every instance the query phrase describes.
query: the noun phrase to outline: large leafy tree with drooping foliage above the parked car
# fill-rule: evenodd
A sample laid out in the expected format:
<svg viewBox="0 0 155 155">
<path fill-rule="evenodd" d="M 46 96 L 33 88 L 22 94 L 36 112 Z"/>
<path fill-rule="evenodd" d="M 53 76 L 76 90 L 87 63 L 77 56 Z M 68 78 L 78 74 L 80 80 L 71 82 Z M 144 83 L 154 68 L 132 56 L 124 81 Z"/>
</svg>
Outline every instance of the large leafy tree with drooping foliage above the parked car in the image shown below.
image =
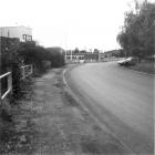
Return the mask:
<svg viewBox="0 0 155 155">
<path fill-rule="evenodd" d="M 155 3 L 135 1 L 135 9 L 125 13 L 124 27 L 117 41 L 127 55 L 140 60 L 154 54 Z"/>
</svg>

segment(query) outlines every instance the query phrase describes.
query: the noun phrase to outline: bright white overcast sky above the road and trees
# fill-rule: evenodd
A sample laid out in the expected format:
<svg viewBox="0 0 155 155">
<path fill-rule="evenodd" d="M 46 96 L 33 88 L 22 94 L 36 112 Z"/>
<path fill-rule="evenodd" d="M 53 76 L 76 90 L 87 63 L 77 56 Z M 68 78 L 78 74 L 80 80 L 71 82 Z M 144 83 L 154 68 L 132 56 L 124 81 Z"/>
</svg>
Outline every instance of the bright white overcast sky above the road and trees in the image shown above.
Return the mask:
<svg viewBox="0 0 155 155">
<path fill-rule="evenodd" d="M 104 52 L 120 49 L 116 35 L 132 3 L 133 0 L 0 0 L 0 27 L 30 27 L 33 39 L 44 46 Z"/>
</svg>

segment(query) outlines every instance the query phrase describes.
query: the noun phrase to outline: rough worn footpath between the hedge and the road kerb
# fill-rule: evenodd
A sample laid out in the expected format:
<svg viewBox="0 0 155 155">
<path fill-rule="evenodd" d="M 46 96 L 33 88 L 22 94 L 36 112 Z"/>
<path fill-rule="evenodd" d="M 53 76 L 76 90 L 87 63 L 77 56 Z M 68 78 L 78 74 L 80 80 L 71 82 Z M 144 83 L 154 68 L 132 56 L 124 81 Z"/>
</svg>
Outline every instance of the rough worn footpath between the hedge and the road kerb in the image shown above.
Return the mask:
<svg viewBox="0 0 155 155">
<path fill-rule="evenodd" d="M 37 78 L 0 132 L 1 155 L 125 155 L 124 147 L 81 107 L 63 70 Z"/>
</svg>

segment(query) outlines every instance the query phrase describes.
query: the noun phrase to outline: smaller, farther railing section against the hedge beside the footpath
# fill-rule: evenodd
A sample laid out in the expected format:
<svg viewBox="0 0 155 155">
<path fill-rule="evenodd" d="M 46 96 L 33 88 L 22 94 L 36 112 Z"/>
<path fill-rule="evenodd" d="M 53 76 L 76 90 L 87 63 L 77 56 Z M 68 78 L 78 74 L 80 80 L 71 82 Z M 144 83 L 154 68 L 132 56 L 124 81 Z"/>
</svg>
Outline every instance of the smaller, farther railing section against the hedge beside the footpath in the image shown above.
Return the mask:
<svg viewBox="0 0 155 155">
<path fill-rule="evenodd" d="M 22 80 L 24 80 L 25 78 L 28 78 L 32 73 L 33 73 L 33 66 L 32 66 L 32 64 L 21 66 L 21 79 Z"/>
</svg>

